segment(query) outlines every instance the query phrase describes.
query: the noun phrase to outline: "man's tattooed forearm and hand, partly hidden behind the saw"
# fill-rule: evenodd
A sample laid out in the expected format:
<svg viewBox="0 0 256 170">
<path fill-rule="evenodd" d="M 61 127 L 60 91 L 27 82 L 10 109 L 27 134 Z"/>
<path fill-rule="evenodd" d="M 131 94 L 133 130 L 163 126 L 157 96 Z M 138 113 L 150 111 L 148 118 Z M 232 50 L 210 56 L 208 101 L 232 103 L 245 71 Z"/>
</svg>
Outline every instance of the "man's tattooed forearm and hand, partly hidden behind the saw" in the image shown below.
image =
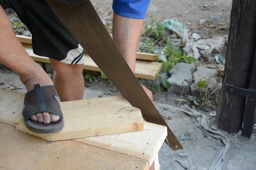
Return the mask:
<svg viewBox="0 0 256 170">
<path fill-rule="evenodd" d="M 122 17 L 116 13 L 113 14 L 113 40 L 133 73 L 135 71 L 136 54 L 143 22 L 143 19 Z M 152 92 L 145 86 L 142 85 L 142 87 L 153 102 Z"/>
</svg>

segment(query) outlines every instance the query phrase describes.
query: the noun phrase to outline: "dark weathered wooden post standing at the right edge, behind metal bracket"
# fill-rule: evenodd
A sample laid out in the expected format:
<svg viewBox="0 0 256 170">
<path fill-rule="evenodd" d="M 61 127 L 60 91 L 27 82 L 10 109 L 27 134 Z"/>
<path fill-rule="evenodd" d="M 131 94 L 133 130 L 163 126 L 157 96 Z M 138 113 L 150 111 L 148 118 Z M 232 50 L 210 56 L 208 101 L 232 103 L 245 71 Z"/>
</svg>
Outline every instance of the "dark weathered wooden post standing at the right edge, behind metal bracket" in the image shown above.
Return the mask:
<svg viewBox="0 0 256 170">
<path fill-rule="evenodd" d="M 226 84 L 249 88 L 256 49 L 256 1 L 233 0 L 224 79 L 217 108 L 218 127 L 241 130 L 246 98 L 227 93 Z"/>
</svg>

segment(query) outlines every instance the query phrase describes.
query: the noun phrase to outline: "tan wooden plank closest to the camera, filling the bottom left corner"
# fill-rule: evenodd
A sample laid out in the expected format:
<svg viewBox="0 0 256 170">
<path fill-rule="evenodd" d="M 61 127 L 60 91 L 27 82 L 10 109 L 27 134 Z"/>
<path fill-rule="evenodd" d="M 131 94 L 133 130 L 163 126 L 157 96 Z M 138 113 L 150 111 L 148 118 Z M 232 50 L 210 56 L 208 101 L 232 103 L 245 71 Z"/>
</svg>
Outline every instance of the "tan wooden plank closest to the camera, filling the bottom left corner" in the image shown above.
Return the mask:
<svg viewBox="0 0 256 170">
<path fill-rule="evenodd" d="M 0 123 L 5 170 L 148 170 L 148 161 L 74 141 L 48 142 Z"/>
</svg>

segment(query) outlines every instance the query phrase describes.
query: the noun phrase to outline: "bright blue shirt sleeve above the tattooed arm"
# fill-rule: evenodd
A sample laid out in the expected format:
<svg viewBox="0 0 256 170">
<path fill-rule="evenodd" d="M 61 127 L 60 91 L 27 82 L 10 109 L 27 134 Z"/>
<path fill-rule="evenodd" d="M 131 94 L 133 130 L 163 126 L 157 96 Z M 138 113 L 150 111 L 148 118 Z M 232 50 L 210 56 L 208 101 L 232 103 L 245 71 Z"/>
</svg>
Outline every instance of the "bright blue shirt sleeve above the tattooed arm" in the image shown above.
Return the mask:
<svg viewBox="0 0 256 170">
<path fill-rule="evenodd" d="M 122 16 L 144 19 L 150 0 L 113 0 L 113 11 Z"/>
</svg>

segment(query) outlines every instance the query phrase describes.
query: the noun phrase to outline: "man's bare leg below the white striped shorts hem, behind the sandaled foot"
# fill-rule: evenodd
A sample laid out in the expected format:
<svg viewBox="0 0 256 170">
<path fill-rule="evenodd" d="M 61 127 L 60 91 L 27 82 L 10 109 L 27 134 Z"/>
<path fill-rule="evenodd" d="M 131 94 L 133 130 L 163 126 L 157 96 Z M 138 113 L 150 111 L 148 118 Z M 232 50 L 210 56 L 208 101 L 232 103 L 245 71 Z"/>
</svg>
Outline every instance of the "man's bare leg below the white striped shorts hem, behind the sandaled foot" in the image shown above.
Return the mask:
<svg viewBox="0 0 256 170">
<path fill-rule="evenodd" d="M 66 64 L 50 59 L 53 82 L 61 102 L 81 100 L 84 96 L 83 64 Z"/>
</svg>

